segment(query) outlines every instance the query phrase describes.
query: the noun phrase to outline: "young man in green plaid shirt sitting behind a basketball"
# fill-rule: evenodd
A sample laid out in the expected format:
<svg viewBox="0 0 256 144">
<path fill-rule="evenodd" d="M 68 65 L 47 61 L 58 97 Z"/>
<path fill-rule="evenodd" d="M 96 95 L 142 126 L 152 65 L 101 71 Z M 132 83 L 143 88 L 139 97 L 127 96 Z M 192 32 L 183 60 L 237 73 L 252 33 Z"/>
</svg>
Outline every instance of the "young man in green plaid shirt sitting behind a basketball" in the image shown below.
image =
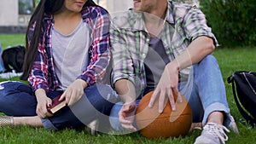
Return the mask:
<svg viewBox="0 0 256 144">
<path fill-rule="evenodd" d="M 204 126 L 195 143 L 225 143 L 238 132 L 230 115 L 217 60 L 218 42 L 201 10 L 167 0 L 134 0 L 134 9 L 113 18 L 111 31 L 113 87 L 122 102 L 111 112 L 114 130 L 137 130 L 134 122 L 141 96 L 154 90 L 148 107 L 159 98 L 159 112 L 172 93 L 185 95 L 193 122 Z"/>
</svg>

